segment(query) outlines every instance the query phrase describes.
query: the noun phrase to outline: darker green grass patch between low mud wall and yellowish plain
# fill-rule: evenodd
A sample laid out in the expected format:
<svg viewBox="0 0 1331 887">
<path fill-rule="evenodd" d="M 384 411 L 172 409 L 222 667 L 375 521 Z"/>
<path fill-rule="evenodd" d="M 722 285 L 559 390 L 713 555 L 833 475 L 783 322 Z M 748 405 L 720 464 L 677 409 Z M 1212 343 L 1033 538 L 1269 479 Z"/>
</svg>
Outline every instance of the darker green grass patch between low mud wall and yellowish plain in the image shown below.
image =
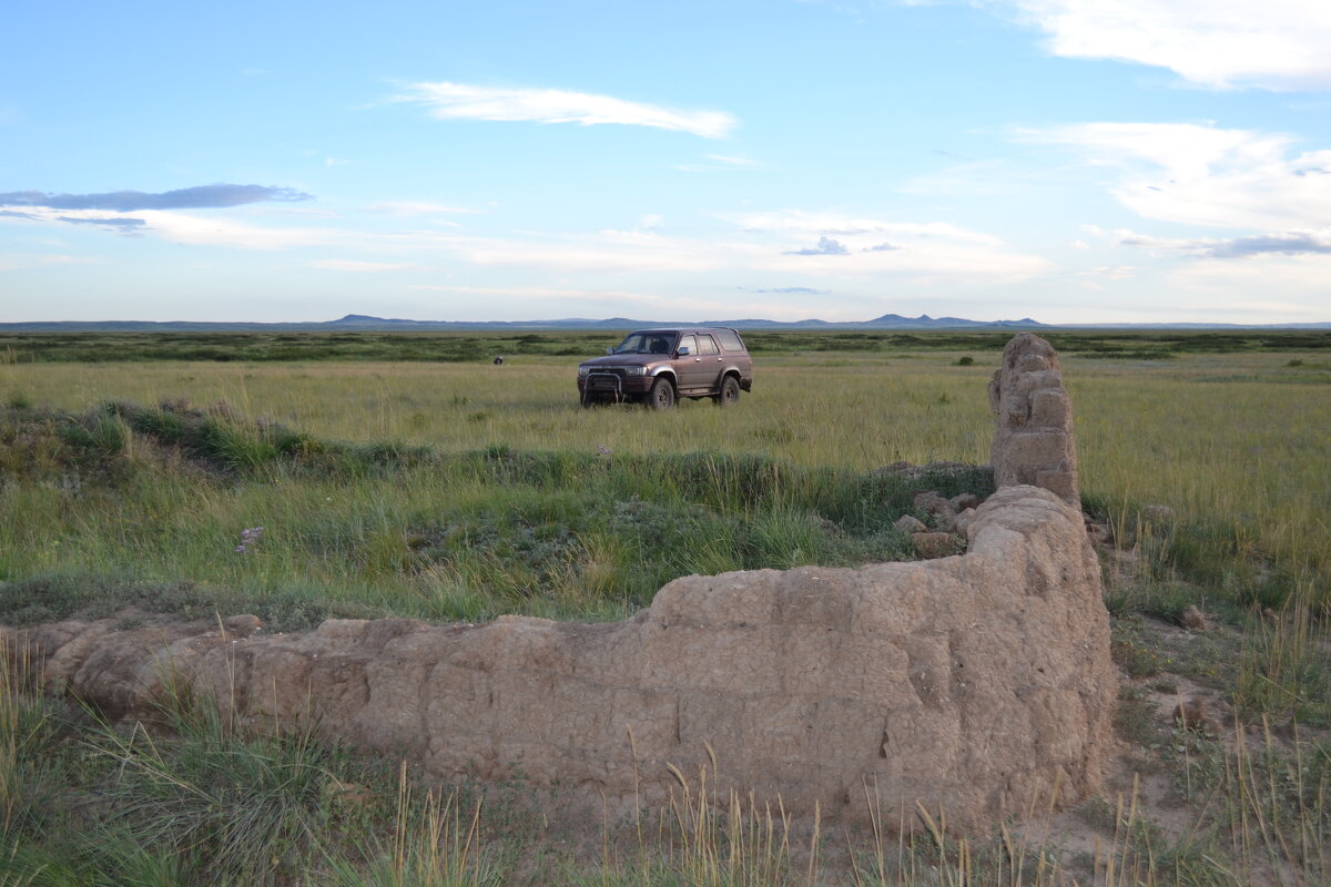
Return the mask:
<svg viewBox="0 0 1331 887">
<path fill-rule="evenodd" d="M 5 496 L 31 517 L 0 528 L 11 624 L 145 604 L 249 608 L 282 628 L 335 613 L 622 618 L 681 574 L 909 553 L 892 523 L 912 489 L 896 476 L 756 453 L 447 453 L 126 403 L 3 410 L 5 442 Z"/>
</svg>

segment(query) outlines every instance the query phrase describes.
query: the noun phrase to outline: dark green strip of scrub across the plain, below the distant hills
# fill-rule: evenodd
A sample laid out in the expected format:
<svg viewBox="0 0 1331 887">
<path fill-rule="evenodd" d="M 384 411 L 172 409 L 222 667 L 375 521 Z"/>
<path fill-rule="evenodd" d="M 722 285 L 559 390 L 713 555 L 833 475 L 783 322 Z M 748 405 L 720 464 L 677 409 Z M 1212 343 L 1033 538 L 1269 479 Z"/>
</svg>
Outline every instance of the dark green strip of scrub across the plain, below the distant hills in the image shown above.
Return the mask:
<svg viewBox="0 0 1331 887">
<path fill-rule="evenodd" d="M 63 332 L 0 334 L 0 363 L 136 360 L 422 360 L 487 362 L 496 356 L 595 356 L 627 330 L 524 332 Z M 749 331 L 755 354 L 823 351 L 1001 351 L 1009 330 Z M 1162 359 L 1177 354 L 1331 350 L 1331 331 L 1041 331 L 1061 354 Z"/>
</svg>

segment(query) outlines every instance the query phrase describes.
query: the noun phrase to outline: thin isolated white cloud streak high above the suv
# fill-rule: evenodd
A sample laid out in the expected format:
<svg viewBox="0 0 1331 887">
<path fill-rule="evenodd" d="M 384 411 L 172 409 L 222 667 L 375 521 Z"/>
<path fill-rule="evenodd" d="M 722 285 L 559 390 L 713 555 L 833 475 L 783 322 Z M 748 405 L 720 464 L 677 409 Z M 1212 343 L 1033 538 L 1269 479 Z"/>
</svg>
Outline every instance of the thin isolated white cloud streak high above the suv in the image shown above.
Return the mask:
<svg viewBox="0 0 1331 887">
<path fill-rule="evenodd" d="M 438 120 L 530 121 L 538 124 L 624 124 L 724 138 L 739 122 L 719 110 L 673 110 L 614 96 L 563 89 L 473 86 L 454 82 L 411 84 L 402 101 L 426 105 Z"/>
</svg>

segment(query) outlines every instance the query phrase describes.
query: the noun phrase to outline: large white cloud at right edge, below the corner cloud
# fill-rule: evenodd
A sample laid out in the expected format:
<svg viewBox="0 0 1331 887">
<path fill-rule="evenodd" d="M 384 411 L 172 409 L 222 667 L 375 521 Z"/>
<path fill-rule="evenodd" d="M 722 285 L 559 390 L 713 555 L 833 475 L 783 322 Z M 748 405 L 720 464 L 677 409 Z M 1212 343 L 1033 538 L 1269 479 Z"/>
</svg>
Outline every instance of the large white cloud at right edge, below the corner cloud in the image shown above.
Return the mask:
<svg viewBox="0 0 1331 887">
<path fill-rule="evenodd" d="M 1319 227 L 1331 206 L 1331 150 L 1295 154 L 1287 136 L 1198 124 L 1077 124 L 1018 138 L 1067 145 L 1117 170 L 1129 209 L 1209 227 Z"/>
</svg>

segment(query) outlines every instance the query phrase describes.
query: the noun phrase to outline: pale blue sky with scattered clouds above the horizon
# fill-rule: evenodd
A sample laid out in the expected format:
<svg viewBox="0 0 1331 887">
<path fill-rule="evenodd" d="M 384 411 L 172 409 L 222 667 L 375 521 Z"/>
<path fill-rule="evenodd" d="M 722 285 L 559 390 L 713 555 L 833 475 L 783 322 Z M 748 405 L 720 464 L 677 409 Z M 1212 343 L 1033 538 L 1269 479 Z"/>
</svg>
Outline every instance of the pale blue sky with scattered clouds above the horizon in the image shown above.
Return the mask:
<svg viewBox="0 0 1331 887">
<path fill-rule="evenodd" d="M 1331 320 L 1326 0 L 9 0 L 0 322 Z"/>
</svg>

